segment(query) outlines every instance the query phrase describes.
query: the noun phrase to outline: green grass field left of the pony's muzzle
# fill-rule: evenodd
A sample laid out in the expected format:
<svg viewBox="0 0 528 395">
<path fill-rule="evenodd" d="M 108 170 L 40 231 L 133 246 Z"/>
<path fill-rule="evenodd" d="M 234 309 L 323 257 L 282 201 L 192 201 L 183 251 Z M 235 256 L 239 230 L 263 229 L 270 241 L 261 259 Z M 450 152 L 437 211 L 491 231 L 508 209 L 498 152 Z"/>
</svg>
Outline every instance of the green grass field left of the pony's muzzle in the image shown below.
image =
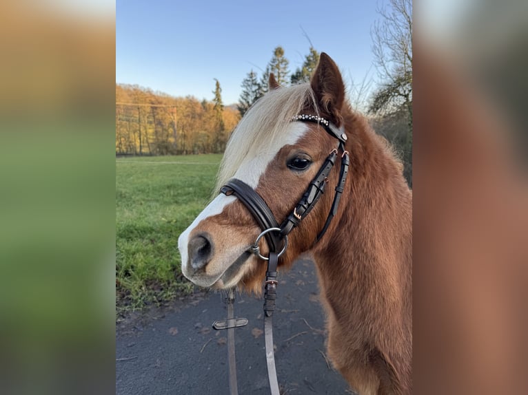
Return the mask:
<svg viewBox="0 0 528 395">
<path fill-rule="evenodd" d="M 169 301 L 192 285 L 178 237 L 211 197 L 221 154 L 116 158 L 116 309 Z"/>
</svg>

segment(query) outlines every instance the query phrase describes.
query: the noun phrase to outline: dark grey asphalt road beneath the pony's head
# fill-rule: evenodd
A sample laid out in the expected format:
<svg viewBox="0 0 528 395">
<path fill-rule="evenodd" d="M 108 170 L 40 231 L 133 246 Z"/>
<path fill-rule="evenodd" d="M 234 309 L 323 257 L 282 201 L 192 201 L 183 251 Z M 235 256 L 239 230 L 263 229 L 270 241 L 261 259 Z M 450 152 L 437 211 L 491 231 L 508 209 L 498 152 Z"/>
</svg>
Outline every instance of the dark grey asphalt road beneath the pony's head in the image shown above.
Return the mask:
<svg viewBox="0 0 528 395">
<path fill-rule="evenodd" d="M 275 362 L 283 394 L 354 394 L 329 365 L 325 318 L 316 270 L 303 259 L 279 273 L 274 313 Z M 250 322 L 235 330 L 238 393 L 267 395 L 261 299 L 237 295 L 235 316 Z M 116 330 L 116 395 L 229 394 L 227 331 L 220 293 L 196 292 L 164 311 L 130 317 Z"/>
</svg>

